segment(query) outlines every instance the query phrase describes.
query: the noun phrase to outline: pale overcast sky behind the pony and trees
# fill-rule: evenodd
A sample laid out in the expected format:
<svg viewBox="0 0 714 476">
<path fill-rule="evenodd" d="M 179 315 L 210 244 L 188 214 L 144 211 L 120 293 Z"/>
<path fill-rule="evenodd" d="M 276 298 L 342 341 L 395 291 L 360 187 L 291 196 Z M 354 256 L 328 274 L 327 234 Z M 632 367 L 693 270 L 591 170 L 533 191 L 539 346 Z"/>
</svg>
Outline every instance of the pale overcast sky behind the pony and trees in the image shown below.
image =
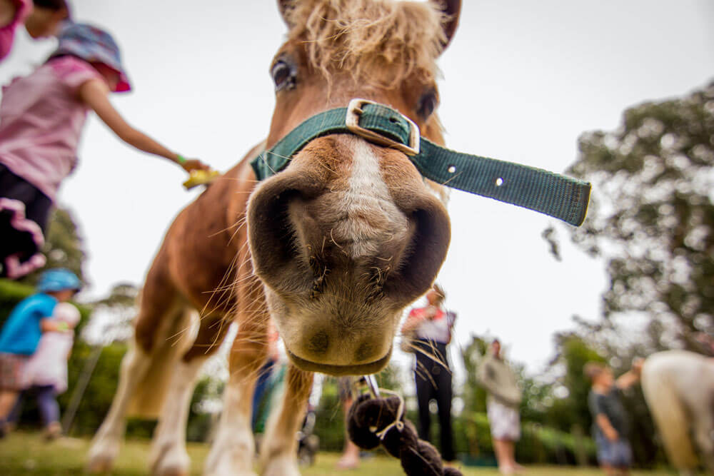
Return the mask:
<svg viewBox="0 0 714 476">
<path fill-rule="evenodd" d="M 119 41 L 134 92 L 113 101 L 135 126 L 221 170 L 266 135 L 268 66 L 285 33 L 274 1 L 73 3 L 76 19 Z M 447 145 L 563 171 L 580 133 L 612 130 L 629 106 L 708 83 L 712 25 L 710 0 L 465 0 L 440 61 Z M 29 73 L 53 46 L 21 32 L 0 83 Z M 198 192 L 94 117 L 79 152 L 59 199 L 79 220 L 89 295 L 99 296 L 119 281 L 141 283 L 166 227 Z M 451 250 L 438 280 L 459 316 L 456 341 L 497 335 L 511 358 L 542 369 L 553 332 L 573 314 L 599 317 L 603 263 L 567 244 L 555 261 L 540 237 L 554 221 L 538 213 L 462 192 L 449 209 Z M 558 233 L 567 238 L 565 226 Z"/>
</svg>

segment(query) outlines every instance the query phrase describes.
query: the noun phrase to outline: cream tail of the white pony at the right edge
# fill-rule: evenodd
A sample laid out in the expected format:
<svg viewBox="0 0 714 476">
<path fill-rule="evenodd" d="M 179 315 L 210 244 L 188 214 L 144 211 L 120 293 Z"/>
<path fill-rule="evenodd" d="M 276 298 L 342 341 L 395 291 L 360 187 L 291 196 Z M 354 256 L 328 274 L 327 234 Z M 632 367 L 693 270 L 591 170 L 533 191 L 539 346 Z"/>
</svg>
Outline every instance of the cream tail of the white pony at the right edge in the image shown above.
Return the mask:
<svg viewBox="0 0 714 476">
<path fill-rule="evenodd" d="M 678 470 L 694 469 L 698 457 L 690 433 L 687 410 L 670 378 L 663 355 L 653 355 L 642 369 L 642 390 L 645 401 L 670 462 Z"/>
</svg>

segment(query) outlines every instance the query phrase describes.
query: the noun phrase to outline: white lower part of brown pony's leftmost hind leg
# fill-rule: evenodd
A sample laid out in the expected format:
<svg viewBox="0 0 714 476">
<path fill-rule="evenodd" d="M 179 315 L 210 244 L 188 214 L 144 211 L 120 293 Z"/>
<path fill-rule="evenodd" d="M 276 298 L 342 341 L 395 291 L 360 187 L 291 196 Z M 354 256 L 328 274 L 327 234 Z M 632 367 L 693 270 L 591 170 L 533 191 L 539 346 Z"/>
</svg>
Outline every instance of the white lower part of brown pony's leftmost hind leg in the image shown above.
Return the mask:
<svg viewBox="0 0 714 476">
<path fill-rule="evenodd" d="M 109 412 L 104 417 L 101 427 L 96 432 L 89 449 L 87 469 L 89 472 L 105 472 L 111 468 L 119 445 L 124 437 L 126 423 L 126 407 L 131 400 L 136 385 L 151 365 L 151 358 L 144 351 L 131 345 L 121 360 L 119 386 L 114 400 L 111 401 Z"/>
</svg>

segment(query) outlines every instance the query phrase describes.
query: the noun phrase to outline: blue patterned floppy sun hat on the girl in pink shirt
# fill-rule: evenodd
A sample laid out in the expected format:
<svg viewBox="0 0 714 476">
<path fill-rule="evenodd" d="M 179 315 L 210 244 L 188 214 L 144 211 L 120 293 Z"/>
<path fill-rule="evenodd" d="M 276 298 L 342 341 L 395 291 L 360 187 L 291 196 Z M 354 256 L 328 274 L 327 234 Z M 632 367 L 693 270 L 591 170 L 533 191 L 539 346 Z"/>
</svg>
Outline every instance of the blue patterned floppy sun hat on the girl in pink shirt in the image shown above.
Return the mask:
<svg viewBox="0 0 714 476">
<path fill-rule="evenodd" d="M 71 54 L 89 63 L 101 63 L 119 74 L 115 93 L 131 91 L 129 77 L 121 64 L 119 46 L 106 31 L 87 24 L 68 23 L 60 32 L 59 46 L 52 56 Z"/>
</svg>

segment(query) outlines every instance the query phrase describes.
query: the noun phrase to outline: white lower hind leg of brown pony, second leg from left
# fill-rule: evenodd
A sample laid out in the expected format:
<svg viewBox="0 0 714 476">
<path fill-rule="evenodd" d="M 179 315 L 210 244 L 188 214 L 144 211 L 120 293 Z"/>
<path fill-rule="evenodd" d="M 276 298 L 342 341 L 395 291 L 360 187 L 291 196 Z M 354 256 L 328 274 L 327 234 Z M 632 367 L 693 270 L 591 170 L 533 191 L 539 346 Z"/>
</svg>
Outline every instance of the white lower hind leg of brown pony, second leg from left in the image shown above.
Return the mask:
<svg viewBox="0 0 714 476">
<path fill-rule="evenodd" d="M 151 470 L 154 475 L 181 475 L 190 470 L 191 460 L 186 452 L 186 421 L 196 378 L 206 358 L 190 362 L 179 360 L 172 372 L 171 385 L 161 409 L 159 425 L 151 442 Z"/>
</svg>

